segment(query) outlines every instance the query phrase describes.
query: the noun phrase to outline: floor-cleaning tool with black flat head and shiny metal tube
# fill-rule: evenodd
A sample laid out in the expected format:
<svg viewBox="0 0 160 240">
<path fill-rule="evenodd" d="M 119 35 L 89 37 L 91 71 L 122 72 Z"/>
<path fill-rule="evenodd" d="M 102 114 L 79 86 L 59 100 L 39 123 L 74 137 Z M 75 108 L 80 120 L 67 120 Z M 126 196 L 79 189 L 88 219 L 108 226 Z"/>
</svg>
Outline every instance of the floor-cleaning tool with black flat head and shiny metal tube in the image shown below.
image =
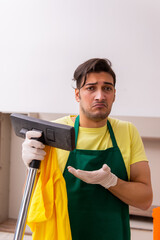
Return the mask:
<svg viewBox="0 0 160 240">
<path fill-rule="evenodd" d="M 40 131 L 42 136 L 37 139 L 43 144 L 72 151 L 75 148 L 75 132 L 74 127 L 48 122 L 26 115 L 11 114 L 11 123 L 18 137 L 25 138 L 26 132 L 30 130 Z M 30 199 L 36 182 L 37 171 L 40 166 L 40 161 L 33 160 L 29 165 L 27 181 L 24 194 L 21 201 L 19 216 L 13 240 L 22 240 L 24 236 L 27 212 Z"/>
</svg>

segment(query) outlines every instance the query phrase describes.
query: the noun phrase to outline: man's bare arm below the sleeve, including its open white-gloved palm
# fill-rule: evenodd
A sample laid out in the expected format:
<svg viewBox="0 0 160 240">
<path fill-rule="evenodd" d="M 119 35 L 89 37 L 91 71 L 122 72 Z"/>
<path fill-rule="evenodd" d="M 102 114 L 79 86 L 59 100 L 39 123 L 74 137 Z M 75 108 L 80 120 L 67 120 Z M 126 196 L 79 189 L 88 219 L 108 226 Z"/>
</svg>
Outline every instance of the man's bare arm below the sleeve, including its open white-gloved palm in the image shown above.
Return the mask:
<svg viewBox="0 0 160 240">
<path fill-rule="evenodd" d="M 111 173 L 106 164 L 96 171 L 77 170 L 68 166 L 68 171 L 82 181 L 88 184 L 100 184 L 126 204 L 143 210 L 148 209 L 152 203 L 152 187 L 148 163 L 135 163 L 131 165 L 130 169 L 131 181 L 127 182 Z"/>
</svg>

